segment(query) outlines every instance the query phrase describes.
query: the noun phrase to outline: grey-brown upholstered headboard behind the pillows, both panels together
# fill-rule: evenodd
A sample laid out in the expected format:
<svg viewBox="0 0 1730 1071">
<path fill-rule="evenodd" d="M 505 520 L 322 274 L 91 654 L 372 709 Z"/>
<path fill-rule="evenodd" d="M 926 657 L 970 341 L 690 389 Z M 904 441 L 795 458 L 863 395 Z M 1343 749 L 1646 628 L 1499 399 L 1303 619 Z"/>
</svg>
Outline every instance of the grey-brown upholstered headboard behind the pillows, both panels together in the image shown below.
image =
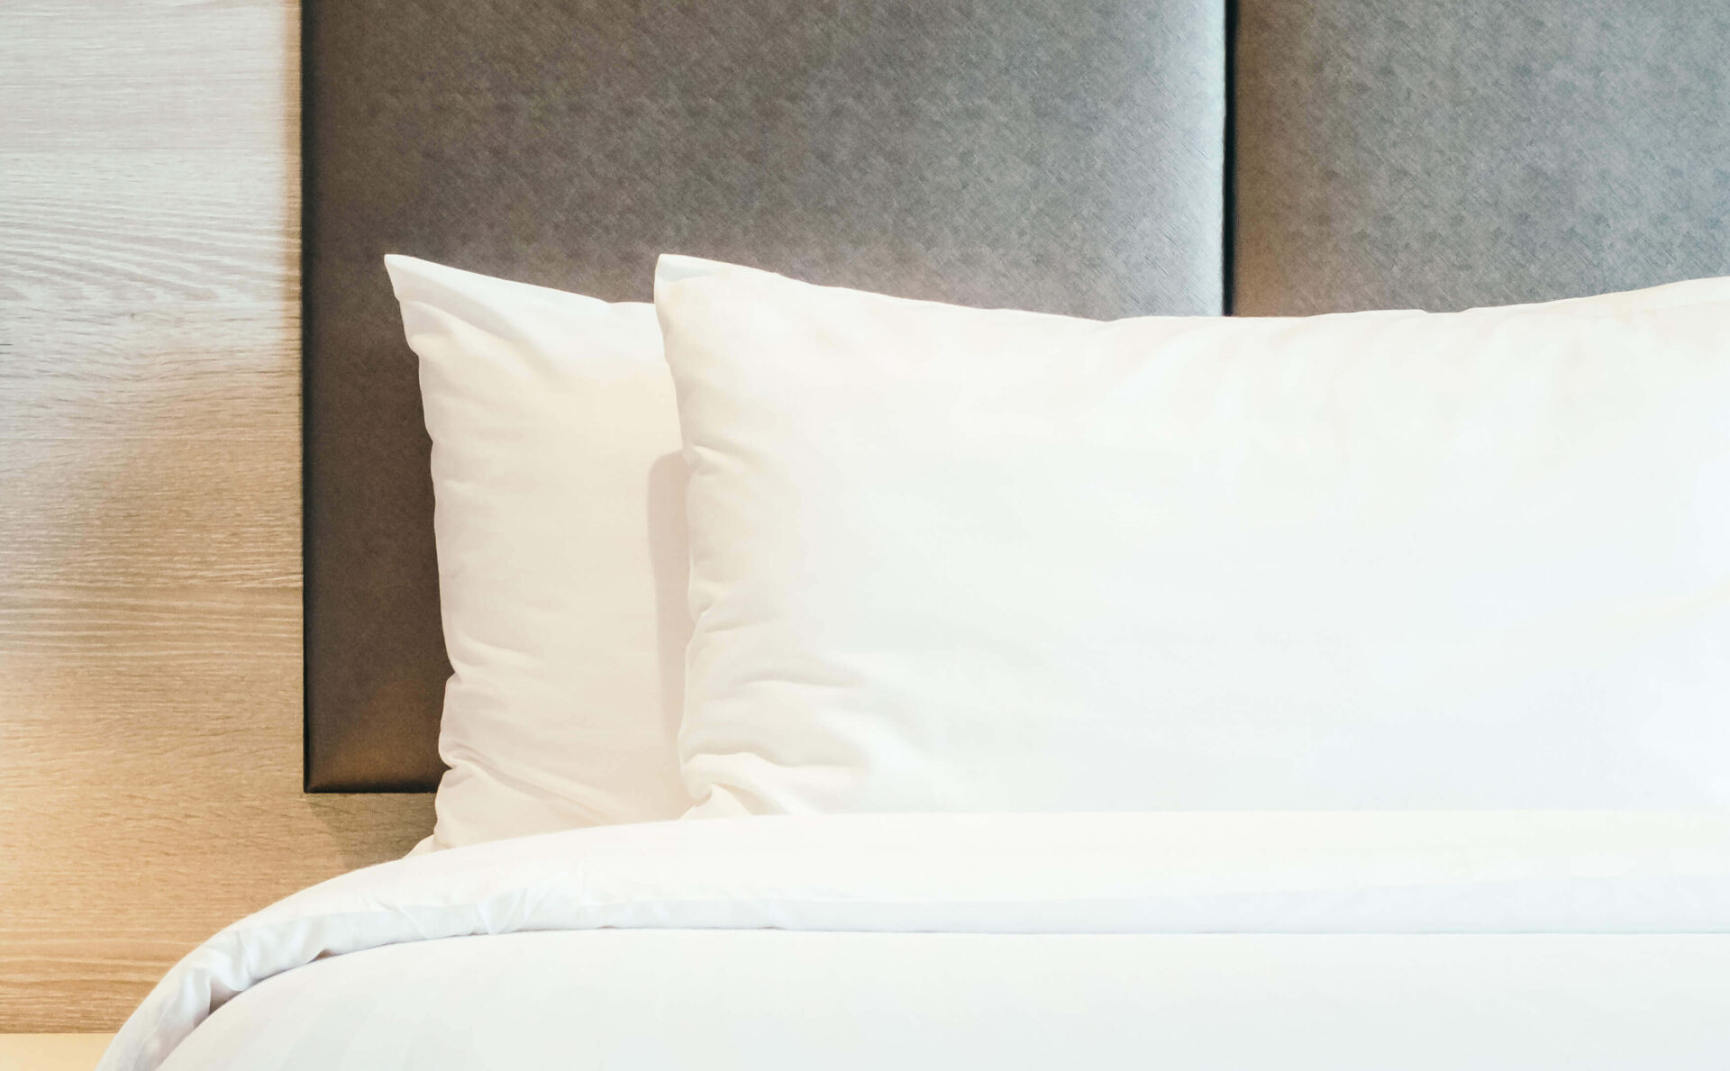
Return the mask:
<svg viewBox="0 0 1730 1071">
<path fill-rule="evenodd" d="M 304 12 L 313 791 L 441 770 L 429 445 L 384 253 L 642 299 L 682 251 L 1093 317 L 1730 273 L 1709 0 Z"/>
</svg>

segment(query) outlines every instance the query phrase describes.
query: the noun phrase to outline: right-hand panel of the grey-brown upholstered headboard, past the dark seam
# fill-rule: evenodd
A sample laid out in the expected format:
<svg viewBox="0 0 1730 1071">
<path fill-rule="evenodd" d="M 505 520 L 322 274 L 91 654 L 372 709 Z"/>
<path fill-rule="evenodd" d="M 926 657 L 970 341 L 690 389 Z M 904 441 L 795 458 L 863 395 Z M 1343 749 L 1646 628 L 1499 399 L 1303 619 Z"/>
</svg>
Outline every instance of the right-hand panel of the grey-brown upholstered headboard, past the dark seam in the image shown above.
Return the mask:
<svg viewBox="0 0 1730 1071">
<path fill-rule="evenodd" d="M 1730 275 L 1721 0 L 1240 0 L 1232 311 Z"/>
</svg>

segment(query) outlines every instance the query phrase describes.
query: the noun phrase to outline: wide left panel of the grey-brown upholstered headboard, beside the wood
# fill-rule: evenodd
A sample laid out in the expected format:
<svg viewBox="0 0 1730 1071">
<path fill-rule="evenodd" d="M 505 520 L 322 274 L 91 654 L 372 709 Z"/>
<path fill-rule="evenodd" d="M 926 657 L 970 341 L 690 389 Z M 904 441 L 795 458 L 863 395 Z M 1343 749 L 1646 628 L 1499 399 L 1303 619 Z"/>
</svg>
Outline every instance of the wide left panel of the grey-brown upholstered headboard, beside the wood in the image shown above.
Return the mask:
<svg viewBox="0 0 1730 1071">
<path fill-rule="evenodd" d="M 1223 0 L 304 0 L 306 786 L 432 787 L 448 666 L 379 263 L 694 253 L 1097 317 L 1223 301 Z"/>
</svg>

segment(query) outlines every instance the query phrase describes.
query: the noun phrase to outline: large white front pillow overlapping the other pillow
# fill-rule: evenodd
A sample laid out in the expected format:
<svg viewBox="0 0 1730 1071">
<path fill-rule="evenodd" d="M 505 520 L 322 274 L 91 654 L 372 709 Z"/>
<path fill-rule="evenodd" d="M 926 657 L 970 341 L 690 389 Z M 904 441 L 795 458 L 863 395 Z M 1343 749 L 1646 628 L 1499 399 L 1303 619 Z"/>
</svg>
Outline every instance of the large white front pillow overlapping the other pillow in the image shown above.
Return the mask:
<svg viewBox="0 0 1730 1071">
<path fill-rule="evenodd" d="M 981 311 L 663 258 L 699 815 L 1730 805 L 1730 280 Z"/>
</svg>

